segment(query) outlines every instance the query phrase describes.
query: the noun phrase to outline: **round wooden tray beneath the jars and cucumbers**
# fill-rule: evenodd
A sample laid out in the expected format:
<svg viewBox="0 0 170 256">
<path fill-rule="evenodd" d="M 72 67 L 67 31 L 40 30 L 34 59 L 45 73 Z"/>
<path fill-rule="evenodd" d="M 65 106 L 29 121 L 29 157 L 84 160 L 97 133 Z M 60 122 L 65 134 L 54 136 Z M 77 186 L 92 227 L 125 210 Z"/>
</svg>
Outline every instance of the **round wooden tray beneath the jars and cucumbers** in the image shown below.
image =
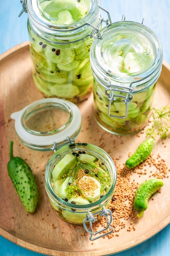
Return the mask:
<svg viewBox="0 0 170 256">
<path fill-rule="evenodd" d="M 164 179 L 165 185 L 155 200 L 150 200 L 144 216 L 137 220 L 127 220 L 126 228 L 119 236 L 111 239 L 100 238 L 93 243 L 87 236 L 79 236 L 83 227 L 73 229 L 70 224 L 60 220 L 52 211 L 44 188 L 44 169 L 51 153 L 30 150 L 23 146 L 15 134 L 14 120 L 10 115 L 14 111 L 42 98 L 32 80 L 31 60 L 28 42 L 22 43 L 0 56 L 0 235 L 12 242 L 48 255 L 61 256 L 99 256 L 121 252 L 144 242 L 155 235 L 170 222 L 170 180 Z M 156 108 L 170 102 L 170 65 L 163 62 L 161 76 L 157 83 L 155 95 Z M 102 146 L 110 155 L 117 158 L 120 165 L 125 163 L 128 153 L 145 139 L 145 133 L 133 136 L 118 137 L 106 133 L 93 119 L 93 95 L 78 104 L 83 117 L 82 132 L 76 141 Z M 39 189 L 38 207 L 33 215 L 26 214 L 20 199 L 7 173 L 9 161 L 9 142 L 14 141 L 14 155 L 18 155 L 31 166 Z M 114 145 L 111 141 L 115 140 Z M 170 139 L 165 143 L 157 141 L 153 155 L 159 153 L 170 167 Z M 169 168 L 168 167 L 168 168 Z M 147 167 L 146 175 L 132 173 L 132 179 L 141 183 L 149 177 L 152 167 Z M 125 221 L 125 220 L 123 220 Z M 127 231 L 130 222 L 135 223 L 136 230 Z M 51 225 L 56 228 L 53 229 Z"/>
</svg>

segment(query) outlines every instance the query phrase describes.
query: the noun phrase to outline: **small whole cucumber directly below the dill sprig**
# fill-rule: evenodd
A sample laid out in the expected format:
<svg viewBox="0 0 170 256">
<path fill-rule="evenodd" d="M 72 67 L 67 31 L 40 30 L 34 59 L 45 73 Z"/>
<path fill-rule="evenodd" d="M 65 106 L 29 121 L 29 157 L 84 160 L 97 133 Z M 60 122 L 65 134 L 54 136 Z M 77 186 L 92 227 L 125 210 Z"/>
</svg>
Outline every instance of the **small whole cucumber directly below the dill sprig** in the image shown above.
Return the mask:
<svg viewBox="0 0 170 256">
<path fill-rule="evenodd" d="M 148 138 L 143 141 L 137 148 L 136 152 L 126 160 L 125 166 L 129 169 L 139 165 L 141 162 L 146 160 L 154 147 L 154 139 Z"/>
</svg>

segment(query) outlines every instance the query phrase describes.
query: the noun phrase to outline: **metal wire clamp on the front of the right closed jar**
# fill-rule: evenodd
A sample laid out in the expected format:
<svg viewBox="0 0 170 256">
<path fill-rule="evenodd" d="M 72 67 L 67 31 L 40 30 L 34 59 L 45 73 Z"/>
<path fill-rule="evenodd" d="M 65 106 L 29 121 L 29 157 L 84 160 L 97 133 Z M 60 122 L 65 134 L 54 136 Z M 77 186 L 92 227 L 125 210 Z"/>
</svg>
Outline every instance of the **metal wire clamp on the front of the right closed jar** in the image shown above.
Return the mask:
<svg viewBox="0 0 170 256">
<path fill-rule="evenodd" d="M 113 87 L 114 86 L 114 87 Z M 131 85 L 130 85 L 131 86 Z M 116 86 L 116 85 L 111 85 L 109 83 L 108 88 L 106 88 L 105 93 L 108 96 L 108 116 L 109 117 L 116 117 L 116 118 L 121 118 L 121 119 L 125 119 L 128 116 L 128 106 L 129 106 L 129 102 L 131 101 L 131 99 L 133 98 L 133 93 L 132 93 L 133 89 L 131 87 L 124 87 L 124 86 Z M 122 94 L 115 94 L 115 92 L 123 92 L 125 95 Z M 119 115 L 111 115 L 110 114 L 110 110 L 111 110 L 111 103 L 113 101 L 117 100 L 117 97 L 122 98 L 121 102 L 124 102 L 126 105 L 126 111 L 125 111 L 125 115 L 124 116 L 119 116 Z"/>
</svg>

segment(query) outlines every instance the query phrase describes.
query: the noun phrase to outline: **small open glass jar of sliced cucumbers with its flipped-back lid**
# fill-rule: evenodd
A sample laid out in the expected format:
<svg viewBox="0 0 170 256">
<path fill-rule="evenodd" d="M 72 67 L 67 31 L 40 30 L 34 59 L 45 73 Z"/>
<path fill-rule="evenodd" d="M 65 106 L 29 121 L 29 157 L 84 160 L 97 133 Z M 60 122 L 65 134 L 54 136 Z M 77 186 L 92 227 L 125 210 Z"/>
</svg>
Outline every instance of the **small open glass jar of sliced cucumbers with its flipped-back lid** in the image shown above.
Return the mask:
<svg viewBox="0 0 170 256">
<path fill-rule="evenodd" d="M 102 148 L 75 143 L 82 126 L 79 108 L 64 99 L 41 99 L 14 112 L 11 118 L 24 145 L 54 152 L 46 165 L 45 188 L 56 215 L 71 224 L 84 225 L 90 240 L 113 232 L 108 208 L 117 180 L 115 164 Z M 101 216 L 106 218 L 107 227 L 94 232 L 93 222 Z M 104 234 L 99 234 L 102 231 Z"/>
</svg>

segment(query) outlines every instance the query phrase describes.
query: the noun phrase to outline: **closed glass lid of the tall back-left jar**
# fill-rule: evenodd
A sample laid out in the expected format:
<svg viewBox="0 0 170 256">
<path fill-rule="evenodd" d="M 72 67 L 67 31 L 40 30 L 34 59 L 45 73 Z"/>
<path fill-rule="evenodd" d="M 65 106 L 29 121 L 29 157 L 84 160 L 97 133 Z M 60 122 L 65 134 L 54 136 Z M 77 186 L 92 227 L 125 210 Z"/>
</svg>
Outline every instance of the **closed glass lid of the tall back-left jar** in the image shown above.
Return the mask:
<svg viewBox="0 0 170 256">
<path fill-rule="evenodd" d="M 89 25 L 98 23 L 99 0 L 23 0 L 22 6 L 33 28 L 48 36 L 52 31 L 56 36 L 84 33 L 86 28 L 92 30 Z"/>
</svg>

